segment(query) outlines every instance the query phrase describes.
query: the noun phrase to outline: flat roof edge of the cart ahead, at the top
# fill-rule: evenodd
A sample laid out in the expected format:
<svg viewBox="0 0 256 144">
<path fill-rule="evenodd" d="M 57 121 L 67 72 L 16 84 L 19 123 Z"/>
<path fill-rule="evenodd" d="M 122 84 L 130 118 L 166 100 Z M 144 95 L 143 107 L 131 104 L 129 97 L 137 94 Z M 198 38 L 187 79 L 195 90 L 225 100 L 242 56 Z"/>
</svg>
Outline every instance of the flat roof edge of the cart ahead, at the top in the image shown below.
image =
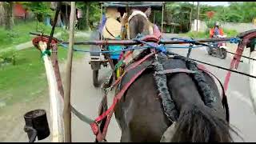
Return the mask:
<svg viewBox="0 0 256 144">
<path fill-rule="evenodd" d="M 150 6 L 154 10 L 162 10 L 162 5 L 165 2 L 101 2 L 103 7 L 115 6 L 115 7 L 148 7 Z"/>
</svg>

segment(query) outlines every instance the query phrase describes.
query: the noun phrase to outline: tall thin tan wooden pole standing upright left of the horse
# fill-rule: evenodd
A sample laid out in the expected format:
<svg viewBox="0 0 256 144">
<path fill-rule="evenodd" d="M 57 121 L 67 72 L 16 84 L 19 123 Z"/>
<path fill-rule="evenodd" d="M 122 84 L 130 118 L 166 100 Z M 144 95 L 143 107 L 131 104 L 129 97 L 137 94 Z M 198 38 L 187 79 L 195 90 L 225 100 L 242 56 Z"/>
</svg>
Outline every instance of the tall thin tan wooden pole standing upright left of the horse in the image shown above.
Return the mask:
<svg viewBox="0 0 256 144">
<path fill-rule="evenodd" d="M 65 77 L 65 91 L 64 91 L 64 129 L 65 129 L 65 142 L 71 142 L 71 106 L 70 106 L 70 92 L 71 92 L 71 70 L 74 46 L 74 18 L 75 18 L 75 2 L 71 2 L 70 12 L 70 39 L 69 50 L 66 62 L 66 77 Z"/>
</svg>

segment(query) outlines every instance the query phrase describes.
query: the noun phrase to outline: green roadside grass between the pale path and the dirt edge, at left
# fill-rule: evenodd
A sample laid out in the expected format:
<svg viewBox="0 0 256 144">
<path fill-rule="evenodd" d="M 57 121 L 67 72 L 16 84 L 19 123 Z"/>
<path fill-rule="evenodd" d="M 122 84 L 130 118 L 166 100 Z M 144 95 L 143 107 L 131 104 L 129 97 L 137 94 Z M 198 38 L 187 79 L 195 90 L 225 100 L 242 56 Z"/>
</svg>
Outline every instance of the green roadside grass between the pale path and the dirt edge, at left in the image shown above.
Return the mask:
<svg viewBox="0 0 256 144">
<path fill-rule="evenodd" d="M 82 48 L 79 47 L 79 49 Z M 83 49 L 88 50 L 88 46 L 83 46 Z M 47 78 L 40 51 L 31 47 L 26 50 L 19 50 L 17 53 L 15 66 L 0 66 L 0 99 L 6 103 L 6 106 L 30 102 L 42 95 L 44 90 L 47 91 Z M 67 50 L 58 46 L 59 63 L 66 60 L 66 57 Z M 75 59 L 83 57 L 84 54 L 74 53 Z"/>
</svg>

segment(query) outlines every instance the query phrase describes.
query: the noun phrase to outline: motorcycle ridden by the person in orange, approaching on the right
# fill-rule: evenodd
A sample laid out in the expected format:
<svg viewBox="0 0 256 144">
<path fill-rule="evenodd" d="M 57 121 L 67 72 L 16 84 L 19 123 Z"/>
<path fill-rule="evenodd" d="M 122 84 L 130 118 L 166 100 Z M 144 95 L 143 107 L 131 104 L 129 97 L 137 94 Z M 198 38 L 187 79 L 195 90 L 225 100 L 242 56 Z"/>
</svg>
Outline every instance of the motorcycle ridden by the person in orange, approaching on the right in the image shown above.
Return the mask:
<svg viewBox="0 0 256 144">
<path fill-rule="evenodd" d="M 216 35 L 214 38 L 226 38 L 226 35 Z M 218 42 L 217 44 L 210 44 L 210 46 L 214 47 L 208 47 L 207 52 L 209 55 L 222 59 L 226 58 L 226 42 Z"/>
</svg>

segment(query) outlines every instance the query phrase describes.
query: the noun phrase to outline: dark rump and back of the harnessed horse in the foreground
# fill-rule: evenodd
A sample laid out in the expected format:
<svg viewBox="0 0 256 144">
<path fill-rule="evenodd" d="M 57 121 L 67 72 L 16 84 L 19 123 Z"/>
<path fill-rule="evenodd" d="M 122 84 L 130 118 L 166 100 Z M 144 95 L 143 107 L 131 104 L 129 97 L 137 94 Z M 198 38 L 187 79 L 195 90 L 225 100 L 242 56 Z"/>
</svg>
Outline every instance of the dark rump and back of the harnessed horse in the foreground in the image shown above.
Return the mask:
<svg viewBox="0 0 256 144">
<path fill-rule="evenodd" d="M 130 70 L 130 71 L 126 72 L 126 75 L 122 78 L 122 81 L 119 84 L 118 90 L 122 90 L 122 86 L 125 86 L 126 83 L 130 81 L 130 78 L 134 77 L 134 74 L 136 74 L 138 71 L 140 71 L 141 69 L 143 69 L 145 67 L 148 68 L 148 70 L 146 70 L 137 79 L 138 82 L 136 82 L 136 81 L 134 82 L 134 84 L 136 83 L 134 86 L 139 86 L 140 85 L 139 83 L 143 83 L 140 86 L 144 85 L 143 86 L 144 88 L 142 88 L 142 87 L 137 87 L 136 88 L 133 85 L 131 85 L 130 88 L 128 90 L 126 90 L 127 93 L 124 94 L 122 99 L 120 100 L 120 102 L 117 106 L 117 109 L 115 111 L 115 114 L 116 114 L 116 118 L 118 120 L 120 120 L 121 123 L 122 123 L 121 124 L 122 131 L 126 131 L 126 133 L 129 133 L 130 130 L 131 130 L 133 132 L 136 132 L 137 134 L 142 134 L 143 133 L 144 136 L 151 135 L 151 137 L 141 138 L 141 137 L 138 137 L 136 134 L 135 135 L 131 134 L 131 132 L 130 132 L 130 134 L 128 134 L 130 136 L 127 136 L 127 134 L 123 134 L 123 135 L 126 135 L 126 136 L 123 136 L 123 138 L 122 138 L 122 141 L 124 141 L 124 142 L 126 142 L 126 141 L 135 141 L 135 142 L 150 141 L 151 142 L 151 141 L 158 141 L 158 140 L 160 141 L 159 137 L 162 136 L 162 134 L 164 133 L 164 130 L 167 129 L 166 126 L 170 126 L 171 123 L 172 123 L 170 121 L 165 122 L 162 119 L 162 116 L 164 116 L 166 120 L 168 118 L 169 119 L 177 118 L 176 121 L 182 121 L 181 119 L 178 119 L 180 117 L 177 115 L 177 106 L 175 106 L 174 99 L 172 99 L 172 94 L 173 94 L 172 86 L 174 86 L 174 84 L 172 84 L 172 86 L 170 86 L 170 85 L 168 86 L 168 90 L 170 91 L 170 97 L 169 98 L 168 97 L 165 97 L 165 98 L 160 97 L 157 100 L 159 103 L 155 101 L 155 98 L 158 98 L 158 94 L 155 94 L 157 89 L 162 90 L 162 88 L 159 89 L 158 86 L 156 86 L 155 79 L 154 80 L 151 79 L 151 78 L 153 78 L 153 75 L 154 75 L 153 72 L 155 70 L 154 69 L 155 63 L 152 64 L 151 66 L 150 66 L 150 63 L 152 63 L 152 61 L 154 62 L 154 60 L 155 60 L 154 57 L 149 58 L 145 62 L 142 62 L 141 65 L 134 68 L 134 70 Z M 163 56 L 163 55 L 159 56 L 158 55 L 158 62 L 160 62 L 162 64 L 163 70 L 174 70 L 174 69 L 187 70 L 188 69 L 187 63 L 186 63 L 186 61 L 184 61 L 184 59 L 175 59 L 175 58 L 170 59 L 170 58 L 167 58 L 166 56 Z M 127 67 L 129 67 L 129 66 L 127 66 Z M 228 127 L 227 123 L 225 123 L 225 112 L 222 108 L 222 100 L 221 100 L 220 94 L 218 93 L 218 87 L 216 86 L 216 84 L 214 82 L 214 79 L 212 77 L 210 77 L 209 74 L 204 73 L 202 70 L 198 70 L 198 72 L 202 73 L 202 77 L 206 78 L 206 82 L 208 82 L 208 83 L 206 83 L 206 85 L 209 84 L 210 89 L 213 89 L 213 90 L 211 90 L 212 91 L 211 96 L 214 96 L 214 98 L 210 98 L 210 96 L 209 96 L 209 98 L 206 98 L 206 95 L 200 93 L 199 92 L 200 88 L 198 88 L 198 93 L 201 95 L 200 99 L 201 99 L 202 103 L 203 102 L 210 102 L 210 106 L 212 106 L 212 107 L 204 106 L 204 107 L 208 107 L 208 109 L 210 110 L 210 111 L 208 111 L 208 110 L 204 111 L 203 108 L 195 106 L 196 104 L 195 105 L 192 104 L 192 106 L 193 105 L 195 106 L 194 109 L 192 111 L 190 111 L 191 109 L 187 109 L 185 112 L 184 111 L 182 112 L 182 114 L 185 114 L 185 115 L 182 115 L 181 117 L 182 118 L 184 117 L 185 119 L 183 119 L 182 125 L 178 125 L 178 126 L 181 127 L 182 129 L 184 129 L 184 128 L 186 129 L 186 125 L 184 125 L 184 122 L 189 124 L 190 122 L 188 122 L 188 119 L 190 119 L 190 118 L 195 118 L 195 119 L 198 118 L 198 120 L 200 120 L 199 122 L 201 122 L 200 124 L 202 124 L 202 126 L 209 125 L 209 123 L 205 122 L 205 121 L 207 121 L 206 119 L 208 118 L 208 119 L 210 119 L 211 124 L 214 123 L 214 126 L 216 126 L 216 127 L 213 128 L 214 130 L 221 130 L 221 128 L 223 128 L 227 131 L 222 130 L 223 131 L 222 134 L 226 135 L 226 133 L 228 133 L 228 128 L 229 127 Z M 151 75 L 151 78 L 150 78 L 150 75 Z M 168 80 L 170 80 L 170 77 L 175 76 L 175 74 L 166 74 L 166 75 L 167 75 Z M 193 74 L 187 74 L 187 75 L 189 75 L 190 78 L 193 79 L 194 84 L 196 86 L 198 86 L 196 84 L 196 81 L 194 81 Z M 142 80 L 143 78 L 144 78 L 144 80 Z M 166 83 L 168 83 L 168 82 L 166 82 Z M 146 90 L 145 86 L 149 86 L 149 90 Z M 150 90 L 152 88 L 154 90 Z M 118 90 L 117 90 L 117 92 L 118 92 Z M 138 90 L 141 90 L 141 91 L 138 91 Z M 142 91 L 142 90 L 144 90 L 144 91 Z M 207 89 L 205 89 L 205 90 L 207 90 Z M 129 93 L 128 93 L 128 91 L 129 91 Z M 129 97 L 126 98 L 127 94 L 129 95 Z M 133 96 L 133 94 L 136 94 L 136 96 Z M 149 97 L 146 96 L 147 94 L 152 96 L 151 100 L 149 99 Z M 140 96 L 141 96 L 141 98 L 140 98 Z M 136 98 L 132 98 L 132 97 L 136 97 Z M 178 98 L 177 95 L 175 97 L 176 97 L 175 102 L 179 102 L 179 101 L 177 101 L 177 98 Z M 190 97 L 190 95 L 187 95 L 187 97 Z M 187 98 L 187 99 L 190 99 L 190 98 Z M 191 97 L 191 100 L 192 99 L 193 99 L 193 96 Z M 214 101 L 211 101 L 211 99 L 214 99 Z M 140 102 L 140 101 L 142 101 L 142 102 Z M 149 104 L 150 108 L 148 106 L 146 106 L 144 108 L 138 108 L 137 105 L 138 106 L 142 105 L 143 101 L 150 102 L 151 103 L 151 104 Z M 137 102 L 139 102 L 140 104 L 138 104 Z M 156 103 L 152 104 L 152 102 L 156 102 Z M 165 106 L 166 103 L 169 106 Z M 176 103 L 176 104 L 178 104 L 178 103 Z M 136 107 L 133 107 L 133 106 L 136 106 Z M 160 106 L 160 107 L 158 107 L 158 106 Z M 174 107 L 174 109 L 171 109 L 173 107 Z M 168 108 L 170 108 L 169 111 L 168 111 Z M 129 110 L 126 110 L 126 109 L 129 109 Z M 136 111 L 136 109 L 138 109 L 140 112 Z M 147 111 L 142 110 L 142 109 L 149 110 L 149 111 L 147 112 Z M 152 109 L 159 109 L 162 112 L 159 112 L 158 110 L 157 111 L 154 110 L 154 112 L 153 112 Z M 125 112 L 125 114 L 123 114 L 124 112 Z M 129 113 L 127 113 L 127 112 L 129 112 Z M 155 114 L 154 116 L 158 115 L 158 118 L 153 118 L 153 119 L 155 119 L 155 121 L 157 121 L 157 122 L 160 122 L 160 123 L 163 122 L 163 123 L 159 124 L 159 123 L 154 123 L 153 122 L 153 123 L 151 123 L 152 126 L 149 126 L 150 128 L 146 128 L 146 130 L 143 130 L 143 129 L 141 130 L 138 127 L 141 127 L 141 128 L 145 127 L 145 123 L 143 123 L 143 122 L 146 122 L 146 123 L 150 122 L 150 120 L 149 120 L 150 117 L 148 117 L 150 114 L 146 114 L 146 113 L 154 113 Z M 178 110 L 178 114 L 180 114 L 180 113 L 181 113 L 181 111 Z M 140 117 L 139 116 L 140 114 L 145 115 L 145 116 Z M 200 114 L 202 114 L 202 115 L 200 115 Z M 215 116 L 213 116 L 211 114 L 214 114 Z M 190 116 L 190 117 L 185 117 L 185 116 Z M 136 117 L 138 117 L 138 118 L 136 118 Z M 191 122 L 194 122 L 194 121 L 191 120 Z M 224 122 L 224 123 L 222 123 L 222 122 Z M 120 125 L 120 122 L 118 122 L 118 123 Z M 218 125 L 216 125 L 217 123 L 222 123 L 222 124 L 218 127 Z M 193 124 L 193 123 L 190 123 L 190 124 Z M 129 126 L 135 126 L 135 127 L 129 127 Z M 193 126 L 193 125 L 191 125 L 191 126 Z M 158 129 L 158 130 L 155 130 L 155 129 Z M 208 128 L 206 127 L 205 129 L 210 130 L 209 127 Z M 200 130 L 198 132 L 200 132 Z M 212 132 L 209 131 L 207 134 L 211 134 L 211 133 Z M 186 134 L 183 134 L 183 135 L 186 135 Z M 209 136 L 209 135 L 207 135 L 207 136 Z M 143 137 L 143 135 L 142 135 L 142 137 Z M 177 134 L 175 135 L 175 137 L 178 138 Z M 201 134 L 200 137 L 198 137 L 198 138 L 202 138 L 201 140 L 200 139 L 194 139 L 194 140 L 191 140 L 191 141 L 194 141 L 194 142 L 207 141 L 206 139 L 203 139 L 203 137 L 204 137 L 203 134 Z M 132 138 L 132 139 L 127 140 L 127 138 L 128 139 Z M 194 138 L 197 138 L 197 137 L 194 137 Z M 223 136 L 221 138 L 224 138 L 224 139 L 226 138 L 225 140 L 221 139 L 220 140 L 221 142 L 222 141 L 229 141 L 228 140 L 229 136 L 227 136 L 227 137 Z M 213 140 L 213 139 L 210 139 L 210 140 Z M 190 140 L 188 140 L 188 141 L 190 141 Z"/>
</svg>

